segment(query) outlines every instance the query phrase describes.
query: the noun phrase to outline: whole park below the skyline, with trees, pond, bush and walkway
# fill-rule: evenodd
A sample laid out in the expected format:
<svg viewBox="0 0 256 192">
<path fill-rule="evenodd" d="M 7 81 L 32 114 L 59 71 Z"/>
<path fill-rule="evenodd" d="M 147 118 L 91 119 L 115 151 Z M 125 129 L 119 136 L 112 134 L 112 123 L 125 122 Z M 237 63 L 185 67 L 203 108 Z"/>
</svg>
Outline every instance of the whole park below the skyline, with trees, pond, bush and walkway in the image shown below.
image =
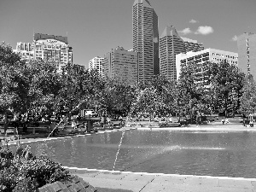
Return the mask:
<svg viewBox="0 0 256 192">
<path fill-rule="evenodd" d="M 177 82 L 156 76 L 133 86 L 72 66 L 55 73 L 50 61 L 26 64 L 7 44 L 0 53 L 3 191 L 45 191 L 65 179 L 91 191 L 110 183 L 113 191 L 254 189 L 256 86 L 229 63 L 207 63 L 201 83 L 188 66 Z M 89 108 L 96 117 L 83 116 Z"/>
</svg>

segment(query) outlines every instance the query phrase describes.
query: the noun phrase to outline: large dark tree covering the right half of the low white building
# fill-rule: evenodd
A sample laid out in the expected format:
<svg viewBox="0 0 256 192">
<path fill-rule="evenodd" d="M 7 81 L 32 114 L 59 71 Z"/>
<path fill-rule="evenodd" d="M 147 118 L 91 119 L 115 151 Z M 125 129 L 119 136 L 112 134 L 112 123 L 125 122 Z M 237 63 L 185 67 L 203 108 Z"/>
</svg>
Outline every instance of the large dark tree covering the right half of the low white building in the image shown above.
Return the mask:
<svg viewBox="0 0 256 192">
<path fill-rule="evenodd" d="M 241 105 L 239 98 L 245 74 L 226 60 L 220 63 L 209 62 L 206 66 L 212 108 L 218 113 L 224 112 L 225 115 L 237 113 Z"/>
</svg>

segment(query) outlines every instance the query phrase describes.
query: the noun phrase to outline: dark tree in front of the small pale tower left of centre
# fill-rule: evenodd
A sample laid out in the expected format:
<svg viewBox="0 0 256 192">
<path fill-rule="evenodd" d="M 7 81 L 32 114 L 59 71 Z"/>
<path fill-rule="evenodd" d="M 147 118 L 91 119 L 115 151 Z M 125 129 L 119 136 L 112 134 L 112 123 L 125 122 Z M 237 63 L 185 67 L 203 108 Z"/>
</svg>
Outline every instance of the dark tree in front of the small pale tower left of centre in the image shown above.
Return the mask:
<svg viewBox="0 0 256 192">
<path fill-rule="evenodd" d="M 77 72 L 67 66 L 61 74 L 61 89 L 55 98 L 55 112 L 79 113 L 84 108 L 96 108 L 102 101 L 104 84 L 94 70 Z"/>
</svg>

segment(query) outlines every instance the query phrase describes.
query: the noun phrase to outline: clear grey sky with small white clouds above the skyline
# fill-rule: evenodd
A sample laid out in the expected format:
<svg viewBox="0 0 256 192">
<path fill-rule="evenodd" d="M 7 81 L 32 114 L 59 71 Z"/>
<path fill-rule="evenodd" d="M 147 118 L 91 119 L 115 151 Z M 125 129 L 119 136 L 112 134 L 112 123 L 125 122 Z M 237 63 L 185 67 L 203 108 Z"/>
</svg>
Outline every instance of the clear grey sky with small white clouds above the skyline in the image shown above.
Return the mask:
<svg viewBox="0 0 256 192">
<path fill-rule="evenodd" d="M 237 52 L 236 37 L 256 33 L 256 0 L 148 0 L 159 33 L 174 26 L 181 37 L 207 48 Z M 33 32 L 67 37 L 73 63 L 89 61 L 117 46 L 132 49 L 134 0 L 0 0 L 0 42 L 13 49 L 32 43 Z"/>
</svg>

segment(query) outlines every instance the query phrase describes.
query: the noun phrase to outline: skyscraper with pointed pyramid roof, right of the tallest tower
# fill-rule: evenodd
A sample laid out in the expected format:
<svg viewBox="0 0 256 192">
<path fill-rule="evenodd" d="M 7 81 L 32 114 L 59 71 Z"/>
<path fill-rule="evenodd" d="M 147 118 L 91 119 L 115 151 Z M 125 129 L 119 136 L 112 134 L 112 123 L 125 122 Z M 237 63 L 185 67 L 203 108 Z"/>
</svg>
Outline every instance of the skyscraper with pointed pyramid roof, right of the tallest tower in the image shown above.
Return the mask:
<svg viewBox="0 0 256 192">
<path fill-rule="evenodd" d="M 160 36 L 160 75 L 169 80 L 177 79 L 176 55 L 183 53 L 184 42 L 173 26 L 166 26 Z"/>
</svg>

